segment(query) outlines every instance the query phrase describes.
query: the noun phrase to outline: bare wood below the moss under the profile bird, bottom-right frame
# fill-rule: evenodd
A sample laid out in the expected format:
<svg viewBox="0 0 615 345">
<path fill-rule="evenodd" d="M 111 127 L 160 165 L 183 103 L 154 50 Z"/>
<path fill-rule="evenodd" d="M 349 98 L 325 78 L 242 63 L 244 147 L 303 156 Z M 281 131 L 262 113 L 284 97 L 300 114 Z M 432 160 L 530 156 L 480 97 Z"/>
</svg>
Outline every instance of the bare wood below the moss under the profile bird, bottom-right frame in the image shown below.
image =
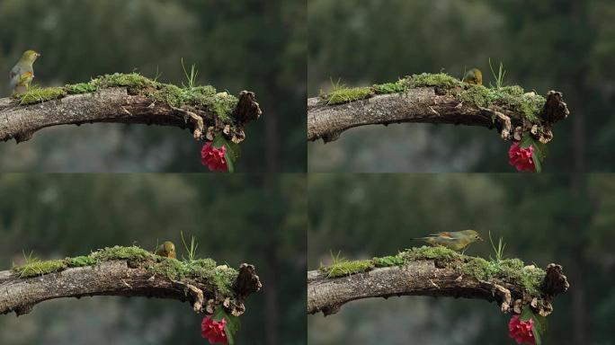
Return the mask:
<svg viewBox="0 0 615 345">
<path fill-rule="evenodd" d="M 459 273 L 437 260 L 406 261 L 402 266 L 377 268 L 345 277 L 327 278 L 325 272 L 307 272 L 307 314 L 334 314 L 356 299 L 389 296 L 450 296 L 495 301 L 503 312 L 520 314 L 532 305 L 540 314 L 552 311 L 551 301 L 568 288 L 561 266 L 550 264 L 537 296 L 530 296 L 521 281 L 480 280 Z"/>
</svg>

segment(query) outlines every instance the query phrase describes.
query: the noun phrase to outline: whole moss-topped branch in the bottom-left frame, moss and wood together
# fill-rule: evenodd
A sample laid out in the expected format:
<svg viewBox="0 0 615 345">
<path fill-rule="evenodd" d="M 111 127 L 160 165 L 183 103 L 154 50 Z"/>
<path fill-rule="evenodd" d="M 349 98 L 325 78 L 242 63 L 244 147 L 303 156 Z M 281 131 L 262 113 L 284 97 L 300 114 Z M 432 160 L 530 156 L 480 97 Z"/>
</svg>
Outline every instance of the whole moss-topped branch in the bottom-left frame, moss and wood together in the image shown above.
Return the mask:
<svg viewBox="0 0 615 345">
<path fill-rule="evenodd" d="M 27 314 L 34 305 L 61 297 L 146 296 L 188 301 L 196 313 L 211 314 L 215 307 L 223 306 L 238 316 L 245 311 L 245 298 L 261 288 L 253 265 L 242 264 L 236 271 L 226 266 L 207 268 L 213 262 L 209 260 L 191 263 L 156 258 L 147 252 L 138 255 L 95 263 L 89 262 L 96 258 L 93 255 L 65 261 L 38 261 L 0 271 L 0 314 L 13 311 L 18 316 Z M 83 266 L 67 267 L 71 263 Z M 37 273 L 31 269 L 34 265 L 53 271 L 34 274 Z M 181 270 L 200 273 L 180 274 Z M 228 278 L 214 281 L 224 276 Z"/>
</svg>

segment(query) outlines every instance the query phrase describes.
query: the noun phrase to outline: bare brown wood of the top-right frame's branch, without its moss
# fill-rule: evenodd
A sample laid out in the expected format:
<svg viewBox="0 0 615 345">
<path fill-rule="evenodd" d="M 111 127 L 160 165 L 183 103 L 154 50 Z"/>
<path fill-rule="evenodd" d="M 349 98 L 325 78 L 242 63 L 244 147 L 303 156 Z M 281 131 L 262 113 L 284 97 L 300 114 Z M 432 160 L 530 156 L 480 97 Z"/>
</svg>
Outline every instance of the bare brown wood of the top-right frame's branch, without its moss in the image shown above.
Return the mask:
<svg viewBox="0 0 615 345">
<path fill-rule="evenodd" d="M 552 137 L 551 126 L 564 119 L 569 111 L 561 93 L 548 93 L 541 113 L 541 126 L 547 142 Z M 461 102 L 454 94 L 438 87 L 410 88 L 402 93 L 370 95 L 366 99 L 341 104 L 327 104 L 321 98 L 307 99 L 307 140 L 323 138 L 334 141 L 343 131 L 365 125 L 420 122 L 497 128 L 504 139 L 512 135 L 520 139 L 521 131 L 528 131 L 533 124 L 521 111 L 512 111 L 505 105 L 479 107 Z M 535 131 L 535 129 L 534 129 Z M 536 134 L 533 133 L 532 134 Z"/>
</svg>

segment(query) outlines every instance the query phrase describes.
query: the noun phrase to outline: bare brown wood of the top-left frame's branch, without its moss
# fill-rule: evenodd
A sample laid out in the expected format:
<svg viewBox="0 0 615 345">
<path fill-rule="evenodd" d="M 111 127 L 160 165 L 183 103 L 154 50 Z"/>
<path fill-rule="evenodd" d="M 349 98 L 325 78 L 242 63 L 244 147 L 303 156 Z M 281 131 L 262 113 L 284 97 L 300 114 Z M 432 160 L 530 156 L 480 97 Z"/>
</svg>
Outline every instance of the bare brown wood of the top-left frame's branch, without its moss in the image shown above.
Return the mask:
<svg viewBox="0 0 615 345">
<path fill-rule="evenodd" d="M 261 110 L 254 93 L 244 91 L 236 105 L 234 141 L 244 138 L 243 126 L 257 119 Z M 196 106 L 174 107 L 155 102 L 127 87 L 103 88 L 94 93 L 68 95 L 58 100 L 20 105 L 13 98 L 0 99 L 0 140 L 29 140 L 41 128 L 82 123 L 115 122 L 189 128 L 196 139 L 228 128 L 210 110 Z M 219 127 L 219 128 L 218 128 Z"/>
</svg>

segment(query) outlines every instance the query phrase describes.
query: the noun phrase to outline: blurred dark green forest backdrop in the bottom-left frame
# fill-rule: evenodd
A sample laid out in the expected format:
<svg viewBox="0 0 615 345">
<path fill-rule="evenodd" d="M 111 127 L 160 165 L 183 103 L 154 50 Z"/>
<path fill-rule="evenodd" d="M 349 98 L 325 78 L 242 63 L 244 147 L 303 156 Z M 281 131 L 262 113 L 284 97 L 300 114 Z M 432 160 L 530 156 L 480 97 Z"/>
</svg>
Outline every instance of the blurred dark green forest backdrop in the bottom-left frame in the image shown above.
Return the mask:
<svg viewBox="0 0 615 345">
<path fill-rule="evenodd" d="M 256 265 L 263 289 L 246 301 L 239 344 L 305 344 L 305 193 L 299 174 L 3 174 L 0 270 L 22 251 L 61 259 L 167 239 L 181 257 L 183 232 L 199 257 Z M 65 298 L 0 315 L 0 344 L 204 344 L 201 319 L 175 300 Z"/>
</svg>

